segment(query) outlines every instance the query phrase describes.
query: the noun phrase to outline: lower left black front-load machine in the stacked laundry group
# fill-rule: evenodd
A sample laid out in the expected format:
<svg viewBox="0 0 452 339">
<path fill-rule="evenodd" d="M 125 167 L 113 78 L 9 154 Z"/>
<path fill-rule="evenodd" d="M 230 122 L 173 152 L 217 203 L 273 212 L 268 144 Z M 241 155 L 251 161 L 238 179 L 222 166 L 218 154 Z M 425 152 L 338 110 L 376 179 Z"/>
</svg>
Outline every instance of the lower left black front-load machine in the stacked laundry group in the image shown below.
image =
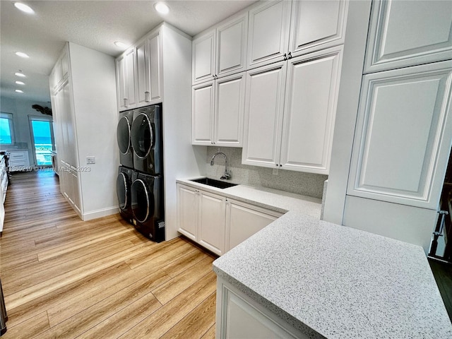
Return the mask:
<svg viewBox="0 0 452 339">
<path fill-rule="evenodd" d="M 138 172 L 131 168 L 119 166 L 118 177 L 116 179 L 116 191 L 119 202 L 119 213 L 122 218 L 133 223 L 131 186 L 138 177 Z"/>
</svg>

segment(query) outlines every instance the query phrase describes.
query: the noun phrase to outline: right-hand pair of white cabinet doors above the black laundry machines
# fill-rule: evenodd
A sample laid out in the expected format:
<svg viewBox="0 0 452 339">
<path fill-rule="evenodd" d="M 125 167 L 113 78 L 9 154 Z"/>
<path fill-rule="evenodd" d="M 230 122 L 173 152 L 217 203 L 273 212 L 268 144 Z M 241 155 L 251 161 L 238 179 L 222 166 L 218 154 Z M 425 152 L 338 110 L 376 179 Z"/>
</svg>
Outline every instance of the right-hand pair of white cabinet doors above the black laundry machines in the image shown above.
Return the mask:
<svg viewBox="0 0 452 339">
<path fill-rule="evenodd" d="M 136 44 L 136 69 L 138 106 L 162 102 L 158 31 Z"/>
</svg>

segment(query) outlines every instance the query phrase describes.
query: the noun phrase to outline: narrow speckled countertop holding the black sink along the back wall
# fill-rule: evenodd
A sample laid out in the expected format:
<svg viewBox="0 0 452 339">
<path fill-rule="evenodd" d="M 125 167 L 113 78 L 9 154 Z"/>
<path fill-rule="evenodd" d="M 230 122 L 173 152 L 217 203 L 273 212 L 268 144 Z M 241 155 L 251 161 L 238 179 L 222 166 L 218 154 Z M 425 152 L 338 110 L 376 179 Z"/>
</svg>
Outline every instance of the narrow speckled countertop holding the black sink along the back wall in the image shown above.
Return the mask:
<svg viewBox="0 0 452 339">
<path fill-rule="evenodd" d="M 191 179 L 197 178 L 199 177 L 177 179 L 177 182 L 179 182 L 179 184 L 203 189 L 203 191 L 208 191 L 210 193 L 221 194 L 227 198 L 233 198 L 245 203 L 252 203 L 255 206 L 275 210 L 280 213 L 295 210 L 304 215 L 309 215 L 312 218 L 320 219 L 322 201 L 319 198 L 244 184 L 237 184 L 237 186 L 229 187 L 227 189 L 218 189 L 213 186 L 198 184 L 197 182 L 191 181 Z M 228 182 L 230 181 L 228 180 Z"/>
</svg>

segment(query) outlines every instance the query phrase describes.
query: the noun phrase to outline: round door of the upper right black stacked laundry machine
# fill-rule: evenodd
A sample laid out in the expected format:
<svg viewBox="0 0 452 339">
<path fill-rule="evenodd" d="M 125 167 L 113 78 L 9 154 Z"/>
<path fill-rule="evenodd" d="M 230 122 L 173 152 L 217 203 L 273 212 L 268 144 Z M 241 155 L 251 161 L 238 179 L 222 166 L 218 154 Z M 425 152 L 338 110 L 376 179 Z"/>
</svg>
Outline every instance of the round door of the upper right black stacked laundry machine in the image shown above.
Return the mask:
<svg viewBox="0 0 452 339">
<path fill-rule="evenodd" d="M 133 152 L 144 159 L 155 144 L 155 125 L 151 123 L 148 114 L 141 113 L 133 118 L 131 138 Z"/>
</svg>

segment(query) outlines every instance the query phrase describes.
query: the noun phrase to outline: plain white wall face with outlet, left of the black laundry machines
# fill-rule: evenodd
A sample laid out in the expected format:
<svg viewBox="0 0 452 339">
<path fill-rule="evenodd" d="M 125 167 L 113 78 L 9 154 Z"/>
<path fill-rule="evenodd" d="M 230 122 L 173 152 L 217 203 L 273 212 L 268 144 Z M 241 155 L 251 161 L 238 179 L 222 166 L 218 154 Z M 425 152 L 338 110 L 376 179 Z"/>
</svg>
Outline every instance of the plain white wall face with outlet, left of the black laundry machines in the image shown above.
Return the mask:
<svg viewBox="0 0 452 339">
<path fill-rule="evenodd" d="M 84 167 L 86 157 L 96 158 L 95 164 L 89 165 L 90 172 L 78 172 L 83 220 L 90 220 L 118 212 L 115 64 L 113 57 L 71 42 L 69 54 L 78 164 Z"/>
</svg>

